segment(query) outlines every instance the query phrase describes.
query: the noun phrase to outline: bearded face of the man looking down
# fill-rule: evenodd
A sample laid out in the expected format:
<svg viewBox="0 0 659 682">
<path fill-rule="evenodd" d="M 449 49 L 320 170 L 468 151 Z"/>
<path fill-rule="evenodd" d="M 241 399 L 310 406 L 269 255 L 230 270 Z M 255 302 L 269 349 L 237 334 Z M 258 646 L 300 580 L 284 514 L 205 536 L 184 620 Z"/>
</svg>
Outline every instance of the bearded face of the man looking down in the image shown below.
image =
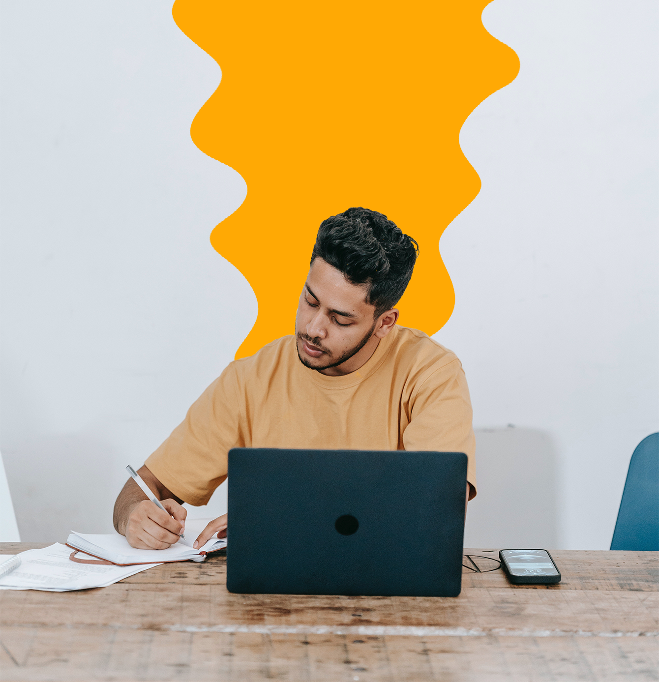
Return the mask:
<svg viewBox="0 0 659 682">
<path fill-rule="evenodd" d="M 372 355 L 379 338 L 372 339 L 377 321 L 375 307 L 366 303 L 368 286 L 351 284 L 322 258 L 311 265 L 295 317 L 297 355 L 312 370 L 327 374 L 352 371 L 349 361 L 361 366 L 358 355 Z M 375 342 L 375 343 L 374 343 Z M 370 351 L 370 352 L 369 352 Z M 344 364 L 346 371 L 341 371 Z M 337 368 L 335 371 L 330 368 Z"/>
</svg>

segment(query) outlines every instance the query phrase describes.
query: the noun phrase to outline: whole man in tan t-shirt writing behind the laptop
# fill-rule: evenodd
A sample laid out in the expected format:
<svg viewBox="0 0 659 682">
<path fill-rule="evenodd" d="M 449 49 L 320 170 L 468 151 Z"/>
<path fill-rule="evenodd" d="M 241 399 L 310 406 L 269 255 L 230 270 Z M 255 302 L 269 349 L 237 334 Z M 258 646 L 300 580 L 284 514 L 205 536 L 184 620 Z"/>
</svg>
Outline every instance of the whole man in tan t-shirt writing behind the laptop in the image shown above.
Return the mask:
<svg viewBox="0 0 659 682">
<path fill-rule="evenodd" d="M 136 548 L 177 542 L 181 504 L 209 501 L 232 447 L 464 452 L 471 499 L 474 436 L 460 361 L 396 325 L 416 257 L 416 242 L 376 211 L 352 208 L 323 221 L 295 336 L 229 364 L 139 470 L 172 516 L 129 479 L 115 503 L 117 531 Z M 194 546 L 224 537 L 226 526 L 224 514 Z"/>
</svg>

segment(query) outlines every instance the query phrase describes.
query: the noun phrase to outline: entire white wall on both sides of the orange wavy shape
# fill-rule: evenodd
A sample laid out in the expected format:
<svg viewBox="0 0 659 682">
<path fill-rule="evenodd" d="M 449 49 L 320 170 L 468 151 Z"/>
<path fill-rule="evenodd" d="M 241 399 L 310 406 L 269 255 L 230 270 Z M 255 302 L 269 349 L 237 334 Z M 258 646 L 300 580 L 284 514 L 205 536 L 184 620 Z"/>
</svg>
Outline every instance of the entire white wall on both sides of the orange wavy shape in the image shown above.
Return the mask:
<svg viewBox="0 0 659 682">
<path fill-rule="evenodd" d="M 2 5 L 1 449 L 25 541 L 108 532 L 123 466 L 256 316 L 208 239 L 246 188 L 188 132 L 220 71 L 170 10 Z M 483 189 L 441 241 L 437 338 L 479 446 L 467 544 L 606 548 L 657 428 L 656 10 L 496 0 L 484 21 L 522 70 L 463 128 Z"/>
</svg>

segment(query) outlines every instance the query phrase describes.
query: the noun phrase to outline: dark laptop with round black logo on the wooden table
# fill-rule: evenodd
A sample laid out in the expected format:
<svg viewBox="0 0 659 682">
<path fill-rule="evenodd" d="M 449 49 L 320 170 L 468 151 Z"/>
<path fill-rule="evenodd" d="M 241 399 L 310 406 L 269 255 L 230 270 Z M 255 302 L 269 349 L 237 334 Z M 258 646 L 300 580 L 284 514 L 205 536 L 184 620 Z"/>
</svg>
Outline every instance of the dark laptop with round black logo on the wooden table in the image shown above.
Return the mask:
<svg viewBox="0 0 659 682">
<path fill-rule="evenodd" d="M 456 597 L 461 452 L 229 452 L 230 592 Z"/>
</svg>

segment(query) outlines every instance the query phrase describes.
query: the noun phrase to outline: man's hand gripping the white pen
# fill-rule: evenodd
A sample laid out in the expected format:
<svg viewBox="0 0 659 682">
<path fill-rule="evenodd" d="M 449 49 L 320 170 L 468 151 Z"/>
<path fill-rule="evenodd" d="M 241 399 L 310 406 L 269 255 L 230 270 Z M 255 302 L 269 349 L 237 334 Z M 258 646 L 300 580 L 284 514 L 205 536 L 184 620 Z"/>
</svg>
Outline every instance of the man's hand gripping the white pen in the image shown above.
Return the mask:
<svg viewBox="0 0 659 682">
<path fill-rule="evenodd" d="M 161 500 L 169 514 L 150 500 L 137 503 L 128 516 L 124 535 L 130 546 L 138 550 L 165 550 L 179 542 L 188 510 L 175 500 Z"/>
</svg>

